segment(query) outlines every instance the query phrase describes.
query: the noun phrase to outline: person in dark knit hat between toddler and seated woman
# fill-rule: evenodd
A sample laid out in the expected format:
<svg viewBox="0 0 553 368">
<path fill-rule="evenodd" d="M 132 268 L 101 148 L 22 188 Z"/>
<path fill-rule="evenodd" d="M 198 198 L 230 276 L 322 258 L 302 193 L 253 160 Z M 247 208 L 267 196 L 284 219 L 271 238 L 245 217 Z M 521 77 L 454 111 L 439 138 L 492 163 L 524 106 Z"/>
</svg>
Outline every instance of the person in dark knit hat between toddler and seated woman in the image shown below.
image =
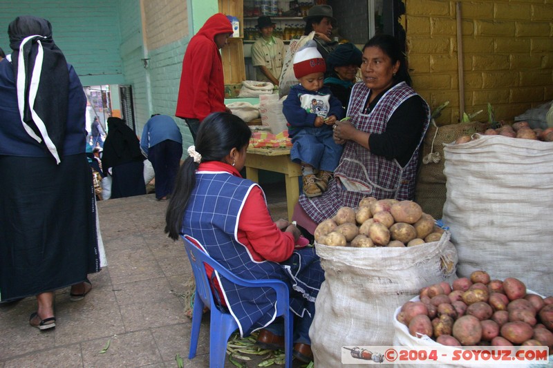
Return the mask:
<svg viewBox="0 0 553 368">
<path fill-rule="evenodd" d="M 328 76 L 324 79 L 324 85 L 330 88 L 344 108 L 348 108 L 353 85 L 360 81 L 357 71 L 362 59 L 363 53 L 353 43 L 342 43 L 326 58 Z"/>
</svg>

